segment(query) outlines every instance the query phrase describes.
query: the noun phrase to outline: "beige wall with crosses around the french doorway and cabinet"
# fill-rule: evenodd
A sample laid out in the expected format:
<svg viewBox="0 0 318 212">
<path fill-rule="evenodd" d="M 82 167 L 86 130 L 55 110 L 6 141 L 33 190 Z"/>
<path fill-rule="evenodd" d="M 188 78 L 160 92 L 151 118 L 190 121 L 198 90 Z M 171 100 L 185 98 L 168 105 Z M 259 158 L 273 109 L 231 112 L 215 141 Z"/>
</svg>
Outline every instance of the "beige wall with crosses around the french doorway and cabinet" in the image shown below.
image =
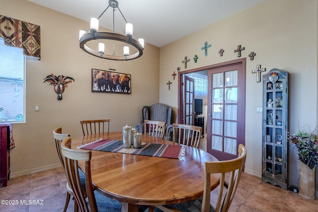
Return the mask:
<svg viewBox="0 0 318 212">
<path fill-rule="evenodd" d="M 262 83 L 256 82 L 252 70 L 256 65 L 288 71 L 289 80 L 289 130 L 294 133 L 300 125 L 317 125 L 317 0 L 264 0 L 231 17 L 214 23 L 191 35 L 160 48 L 160 102 L 171 105 L 177 113 L 177 77 L 170 90 L 166 82 L 172 79 L 177 67 L 184 71 L 182 60 L 191 61 L 187 70 L 238 59 L 234 50 L 245 47 L 241 58 L 246 57 L 246 111 L 245 145 L 247 158 L 245 171 L 261 176 Z M 186 26 L 185 26 L 186 27 Z M 201 47 L 212 44 L 208 56 Z M 224 49 L 223 57 L 218 51 Z M 248 54 L 255 52 L 250 61 Z M 193 57 L 199 57 L 194 63 Z M 296 154 L 290 148 L 289 180 L 297 185 Z M 292 174 L 291 174 L 292 173 Z"/>
</svg>

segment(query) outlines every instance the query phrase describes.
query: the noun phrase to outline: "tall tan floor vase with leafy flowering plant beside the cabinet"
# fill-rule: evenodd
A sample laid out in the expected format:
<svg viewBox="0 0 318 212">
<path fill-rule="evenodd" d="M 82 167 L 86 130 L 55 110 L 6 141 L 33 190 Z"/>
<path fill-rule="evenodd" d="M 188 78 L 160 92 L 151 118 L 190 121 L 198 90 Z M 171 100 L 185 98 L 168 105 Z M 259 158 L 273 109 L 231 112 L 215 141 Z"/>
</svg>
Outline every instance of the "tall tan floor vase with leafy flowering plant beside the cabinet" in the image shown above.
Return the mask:
<svg viewBox="0 0 318 212">
<path fill-rule="evenodd" d="M 315 199 L 316 167 L 318 166 L 318 127 L 312 132 L 300 128 L 296 135 L 288 136 L 288 141 L 296 149 L 299 168 L 299 195 L 307 199 Z"/>
</svg>

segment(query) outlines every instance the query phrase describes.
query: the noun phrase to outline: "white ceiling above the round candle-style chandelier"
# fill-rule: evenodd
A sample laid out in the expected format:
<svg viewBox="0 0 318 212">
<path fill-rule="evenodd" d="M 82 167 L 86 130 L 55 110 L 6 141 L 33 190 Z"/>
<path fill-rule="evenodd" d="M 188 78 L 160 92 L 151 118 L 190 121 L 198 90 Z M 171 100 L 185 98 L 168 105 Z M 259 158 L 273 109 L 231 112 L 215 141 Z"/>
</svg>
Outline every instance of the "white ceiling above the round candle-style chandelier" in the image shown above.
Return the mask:
<svg viewBox="0 0 318 212">
<path fill-rule="evenodd" d="M 28 0 L 89 22 L 108 6 L 108 0 Z M 138 38 L 162 47 L 199 29 L 251 7 L 262 0 L 117 0 Z M 113 30 L 109 7 L 99 25 Z M 87 23 L 87 29 L 89 23 Z M 125 34 L 125 21 L 115 11 L 115 31 Z M 87 30 L 82 29 L 82 30 Z M 80 30 L 80 29 L 79 29 Z"/>
</svg>

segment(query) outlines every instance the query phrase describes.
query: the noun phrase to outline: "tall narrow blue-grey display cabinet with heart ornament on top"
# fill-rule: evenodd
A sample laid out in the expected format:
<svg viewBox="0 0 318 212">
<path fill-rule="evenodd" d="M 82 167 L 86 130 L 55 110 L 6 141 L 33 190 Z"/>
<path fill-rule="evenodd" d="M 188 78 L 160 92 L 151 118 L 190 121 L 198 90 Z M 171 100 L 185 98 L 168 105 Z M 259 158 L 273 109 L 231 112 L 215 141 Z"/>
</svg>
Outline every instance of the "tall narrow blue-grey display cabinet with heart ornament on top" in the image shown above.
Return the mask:
<svg viewBox="0 0 318 212">
<path fill-rule="evenodd" d="M 262 181 L 287 189 L 288 72 L 263 75 Z"/>
</svg>

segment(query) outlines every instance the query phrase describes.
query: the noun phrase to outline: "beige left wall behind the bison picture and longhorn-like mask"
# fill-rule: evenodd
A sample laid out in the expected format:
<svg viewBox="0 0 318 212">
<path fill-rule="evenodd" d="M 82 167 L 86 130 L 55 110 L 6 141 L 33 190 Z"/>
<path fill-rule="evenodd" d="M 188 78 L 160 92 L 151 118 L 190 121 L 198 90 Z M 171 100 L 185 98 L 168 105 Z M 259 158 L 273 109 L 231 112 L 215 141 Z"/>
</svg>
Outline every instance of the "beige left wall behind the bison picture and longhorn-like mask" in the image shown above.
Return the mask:
<svg viewBox="0 0 318 212">
<path fill-rule="evenodd" d="M 144 105 L 159 102 L 158 47 L 146 43 L 144 55 L 133 61 L 102 60 L 79 48 L 79 30 L 87 29 L 88 22 L 26 0 L 0 0 L 0 5 L 1 15 L 41 27 L 41 61 L 26 60 L 26 123 L 13 126 L 11 176 L 60 165 L 54 128 L 78 137 L 80 120 L 110 118 L 110 131 L 120 131 L 126 124 L 140 122 Z M 92 68 L 131 74 L 132 94 L 92 93 Z M 43 83 L 51 73 L 75 79 L 62 101 L 49 83 Z M 39 112 L 33 111 L 34 104 L 40 105 Z"/>
</svg>

